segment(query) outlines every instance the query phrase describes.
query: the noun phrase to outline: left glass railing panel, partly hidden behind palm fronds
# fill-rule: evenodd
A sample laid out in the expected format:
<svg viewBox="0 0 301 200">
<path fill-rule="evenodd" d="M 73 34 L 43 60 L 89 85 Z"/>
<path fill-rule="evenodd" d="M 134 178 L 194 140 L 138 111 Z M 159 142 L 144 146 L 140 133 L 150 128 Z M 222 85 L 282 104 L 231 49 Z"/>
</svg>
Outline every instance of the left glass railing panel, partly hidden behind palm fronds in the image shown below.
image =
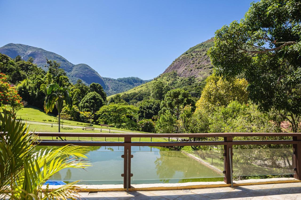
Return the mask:
<svg viewBox="0 0 301 200">
<path fill-rule="evenodd" d="M 45 147 L 43 147 L 45 148 Z M 123 184 L 123 148 L 124 147 L 86 147 L 90 167 L 85 169 L 68 168 L 54 174 L 48 181 L 71 182 L 79 184 Z"/>
</svg>

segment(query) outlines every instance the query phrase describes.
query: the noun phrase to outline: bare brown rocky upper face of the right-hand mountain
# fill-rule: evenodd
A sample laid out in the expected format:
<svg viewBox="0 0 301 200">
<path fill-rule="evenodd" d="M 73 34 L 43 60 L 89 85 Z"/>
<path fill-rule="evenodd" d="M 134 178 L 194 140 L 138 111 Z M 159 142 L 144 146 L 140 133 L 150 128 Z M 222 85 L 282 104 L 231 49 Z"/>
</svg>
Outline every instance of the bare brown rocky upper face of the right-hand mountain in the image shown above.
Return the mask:
<svg viewBox="0 0 301 200">
<path fill-rule="evenodd" d="M 171 71 L 177 71 L 178 75 L 181 77 L 195 76 L 206 78 L 212 74 L 213 68 L 213 65 L 206 53 L 210 47 L 213 47 L 213 45 L 214 39 L 211 38 L 191 47 L 175 59 L 172 64 L 166 68 L 163 74 Z"/>
</svg>

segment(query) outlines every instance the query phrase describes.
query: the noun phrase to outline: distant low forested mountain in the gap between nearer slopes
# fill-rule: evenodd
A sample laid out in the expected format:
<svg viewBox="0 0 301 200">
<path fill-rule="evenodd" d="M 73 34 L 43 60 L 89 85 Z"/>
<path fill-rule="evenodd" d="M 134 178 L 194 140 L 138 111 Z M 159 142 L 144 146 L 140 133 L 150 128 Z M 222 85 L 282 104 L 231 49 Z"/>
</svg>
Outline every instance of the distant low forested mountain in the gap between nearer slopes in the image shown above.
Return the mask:
<svg viewBox="0 0 301 200">
<path fill-rule="evenodd" d="M 127 77 L 127 78 L 106 78 L 103 77 L 104 82 L 106 83 L 106 88 L 104 91 L 107 93 L 107 96 L 117 94 L 120 92 L 127 91 L 133 87 L 139 86 L 143 83 L 147 83 L 151 80 L 142 80 L 138 77 Z"/>
</svg>

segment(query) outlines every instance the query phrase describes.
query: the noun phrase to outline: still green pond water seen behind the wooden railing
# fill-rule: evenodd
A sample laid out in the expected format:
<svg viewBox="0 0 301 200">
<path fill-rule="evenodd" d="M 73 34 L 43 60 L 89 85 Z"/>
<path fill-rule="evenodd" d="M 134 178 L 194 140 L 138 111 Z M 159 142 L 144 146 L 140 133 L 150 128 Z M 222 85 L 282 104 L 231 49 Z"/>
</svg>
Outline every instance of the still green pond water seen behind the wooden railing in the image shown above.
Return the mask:
<svg viewBox="0 0 301 200">
<path fill-rule="evenodd" d="M 80 184 L 123 184 L 123 147 L 89 147 L 89 150 L 87 156 L 93 166 L 61 170 L 51 180 L 81 180 Z M 180 151 L 161 147 L 132 147 L 132 155 L 132 184 L 223 180 L 222 173 Z"/>
</svg>

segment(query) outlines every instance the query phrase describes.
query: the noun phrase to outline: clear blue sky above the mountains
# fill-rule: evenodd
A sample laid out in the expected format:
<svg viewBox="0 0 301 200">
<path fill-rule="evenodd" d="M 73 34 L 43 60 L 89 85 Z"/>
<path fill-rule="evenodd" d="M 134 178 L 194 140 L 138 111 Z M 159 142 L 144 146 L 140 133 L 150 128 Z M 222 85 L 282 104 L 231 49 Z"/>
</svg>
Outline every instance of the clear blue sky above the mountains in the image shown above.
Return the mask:
<svg viewBox="0 0 301 200">
<path fill-rule="evenodd" d="M 20 43 L 85 63 L 103 77 L 151 79 L 253 0 L 0 0 L 0 47 Z"/>
</svg>

